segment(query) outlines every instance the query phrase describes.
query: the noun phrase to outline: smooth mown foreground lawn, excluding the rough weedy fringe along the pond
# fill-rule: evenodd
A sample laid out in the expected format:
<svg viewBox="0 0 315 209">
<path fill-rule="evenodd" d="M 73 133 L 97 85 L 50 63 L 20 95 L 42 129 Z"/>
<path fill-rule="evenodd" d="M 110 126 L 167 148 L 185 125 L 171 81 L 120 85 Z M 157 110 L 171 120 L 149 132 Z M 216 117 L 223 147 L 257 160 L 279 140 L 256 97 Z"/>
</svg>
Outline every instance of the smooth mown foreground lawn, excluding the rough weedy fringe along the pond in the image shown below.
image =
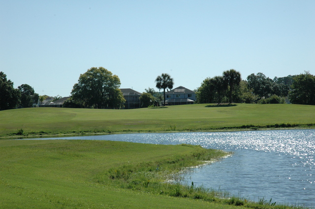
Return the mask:
<svg viewBox="0 0 315 209">
<path fill-rule="evenodd" d="M 107 176 L 108 170 L 124 165 L 155 164 L 200 152 L 204 149 L 199 146 L 0 140 L 0 208 L 236 208 L 124 189 Z M 99 179 L 104 175 L 109 182 Z"/>
</svg>

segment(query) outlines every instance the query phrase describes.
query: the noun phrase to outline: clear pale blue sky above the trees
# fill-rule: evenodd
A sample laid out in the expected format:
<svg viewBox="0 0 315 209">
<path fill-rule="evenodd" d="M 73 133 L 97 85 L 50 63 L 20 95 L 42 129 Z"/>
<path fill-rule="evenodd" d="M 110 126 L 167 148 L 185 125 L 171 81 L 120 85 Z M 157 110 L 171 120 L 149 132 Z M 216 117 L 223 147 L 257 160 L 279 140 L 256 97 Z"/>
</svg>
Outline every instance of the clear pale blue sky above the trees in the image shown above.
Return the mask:
<svg viewBox="0 0 315 209">
<path fill-rule="evenodd" d="M 162 73 L 191 90 L 229 69 L 314 75 L 315 0 L 0 0 L 0 71 L 15 88 L 69 96 L 100 66 L 139 92 Z"/>
</svg>

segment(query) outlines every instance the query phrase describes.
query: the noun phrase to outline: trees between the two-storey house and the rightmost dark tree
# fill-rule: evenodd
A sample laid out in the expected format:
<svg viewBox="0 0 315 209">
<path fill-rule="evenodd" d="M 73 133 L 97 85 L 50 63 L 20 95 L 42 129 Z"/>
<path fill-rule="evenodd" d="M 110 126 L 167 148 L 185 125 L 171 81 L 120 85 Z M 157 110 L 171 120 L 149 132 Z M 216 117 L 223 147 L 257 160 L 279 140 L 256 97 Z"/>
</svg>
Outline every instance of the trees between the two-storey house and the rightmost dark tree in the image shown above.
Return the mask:
<svg viewBox="0 0 315 209">
<path fill-rule="evenodd" d="M 258 73 L 257 75 L 251 74 L 247 80 L 242 80 L 240 73 L 231 69 L 224 71 L 222 77 L 204 79 L 196 90 L 197 103 L 284 103 L 288 92 L 295 91 L 295 87 L 290 86 L 295 77 L 289 75 L 282 78 L 275 77 L 272 80 L 263 73 Z M 221 81 L 224 82 L 223 86 Z"/>
</svg>

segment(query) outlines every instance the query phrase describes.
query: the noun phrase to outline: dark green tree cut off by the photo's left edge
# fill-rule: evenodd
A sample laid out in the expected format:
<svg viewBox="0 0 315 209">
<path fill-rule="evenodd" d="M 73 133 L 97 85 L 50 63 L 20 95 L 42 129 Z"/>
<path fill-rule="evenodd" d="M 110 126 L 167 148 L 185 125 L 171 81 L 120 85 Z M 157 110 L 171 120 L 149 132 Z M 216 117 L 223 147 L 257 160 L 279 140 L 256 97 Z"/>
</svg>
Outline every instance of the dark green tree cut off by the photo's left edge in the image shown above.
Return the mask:
<svg viewBox="0 0 315 209">
<path fill-rule="evenodd" d="M 13 82 L 0 72 L 0 110 L 16 108 L 19 103 L 20 91 L 13 88 Z"/>
</svg>

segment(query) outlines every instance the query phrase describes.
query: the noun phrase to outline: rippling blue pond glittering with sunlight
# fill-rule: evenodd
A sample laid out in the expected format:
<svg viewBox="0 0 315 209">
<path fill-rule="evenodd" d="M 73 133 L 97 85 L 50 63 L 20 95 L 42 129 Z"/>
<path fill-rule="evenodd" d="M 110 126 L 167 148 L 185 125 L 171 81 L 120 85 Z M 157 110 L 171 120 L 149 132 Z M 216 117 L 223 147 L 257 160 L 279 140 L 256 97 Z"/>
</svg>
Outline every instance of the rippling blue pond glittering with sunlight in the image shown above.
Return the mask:
<svg viewBox="0 0 315 209">
<path fill-rule="evenodd" d="M 315 207 L 315 129 L 133 133 L 58 139 L 187 143 L 232 151 L 230 157 L 193 169 L 185 175 L 184 182 L 254 201 L 272 198 L 272 202 Z"/>
</svg>

